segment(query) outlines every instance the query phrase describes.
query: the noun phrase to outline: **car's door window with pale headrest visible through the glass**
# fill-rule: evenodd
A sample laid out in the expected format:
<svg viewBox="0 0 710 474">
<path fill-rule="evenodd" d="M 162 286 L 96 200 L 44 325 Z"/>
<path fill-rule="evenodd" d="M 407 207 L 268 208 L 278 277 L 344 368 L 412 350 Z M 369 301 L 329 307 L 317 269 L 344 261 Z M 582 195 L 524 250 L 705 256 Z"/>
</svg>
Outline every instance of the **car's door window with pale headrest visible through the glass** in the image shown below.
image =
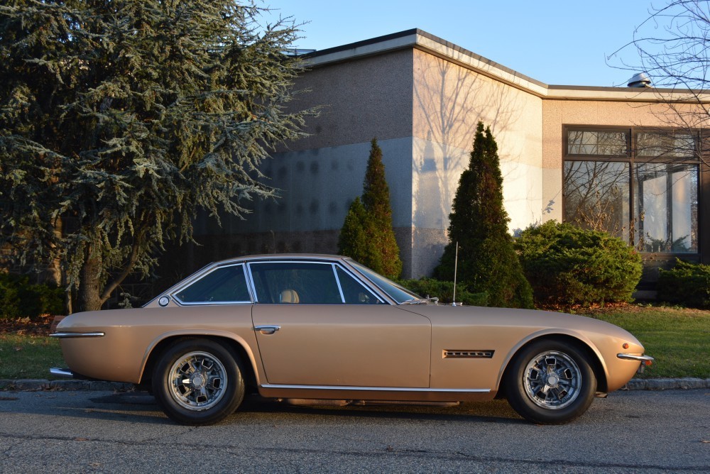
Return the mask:
<svg viewBox="0 0 710 474">
<path fill-rule="evenodd" d="M 330 263 L 251 263 L 256 298 L 260 303 L 342 304 Z"/>
</svg>

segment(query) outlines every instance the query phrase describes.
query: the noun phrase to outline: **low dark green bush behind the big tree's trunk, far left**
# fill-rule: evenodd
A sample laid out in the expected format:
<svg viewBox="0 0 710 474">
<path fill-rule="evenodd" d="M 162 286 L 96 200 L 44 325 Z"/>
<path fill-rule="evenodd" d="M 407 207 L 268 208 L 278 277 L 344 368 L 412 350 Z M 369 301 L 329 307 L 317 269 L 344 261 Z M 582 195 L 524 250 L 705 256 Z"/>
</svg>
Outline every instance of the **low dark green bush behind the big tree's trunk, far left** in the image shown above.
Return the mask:
<svg viewBox="0 0 710 474">
<path fill-rule="evenodd" d="M 0 319 L 64 314 L 64 290 L 32 285 L 28 277 L 0 273 Z"/>
</svg>

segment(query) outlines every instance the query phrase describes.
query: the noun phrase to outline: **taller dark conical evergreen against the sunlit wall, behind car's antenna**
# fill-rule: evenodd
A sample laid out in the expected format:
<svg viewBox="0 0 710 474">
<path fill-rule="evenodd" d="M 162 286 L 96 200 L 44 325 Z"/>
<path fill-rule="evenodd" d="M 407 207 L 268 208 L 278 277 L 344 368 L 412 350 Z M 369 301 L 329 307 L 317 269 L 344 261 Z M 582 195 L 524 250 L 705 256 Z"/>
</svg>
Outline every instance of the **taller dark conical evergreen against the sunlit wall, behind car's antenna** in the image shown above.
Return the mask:
<svg viewBox="0 0 710 474">
<path fill-rule="evenodd" d="M 494 307 L 532 307 L 532 290 L 508 233 L 508 213 L 503 207 L 503 176 L 498 145 L 488 127 L 479 122 L 469 168 L 461 173 L 449 214 L 449 245 L 435 275 L 454 279 L 456 245 L 459 244 L 457 278 L 471 292 L 487 292 Z"/>
</svg>

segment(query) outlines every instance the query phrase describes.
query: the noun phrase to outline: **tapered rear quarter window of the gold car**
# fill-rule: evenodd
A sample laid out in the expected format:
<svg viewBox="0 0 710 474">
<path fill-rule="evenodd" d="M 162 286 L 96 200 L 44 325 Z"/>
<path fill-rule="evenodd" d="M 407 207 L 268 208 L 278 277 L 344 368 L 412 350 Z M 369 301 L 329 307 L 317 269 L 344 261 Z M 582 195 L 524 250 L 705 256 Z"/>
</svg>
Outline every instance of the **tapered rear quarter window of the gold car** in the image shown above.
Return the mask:
<svg viewBox="0 0 710 474">
<path fill-rule="evenodd" d="M 175 297 L 183 303 L 251 302 L 243 265 L 212 270 L 175 293 Z"/>
</svg>

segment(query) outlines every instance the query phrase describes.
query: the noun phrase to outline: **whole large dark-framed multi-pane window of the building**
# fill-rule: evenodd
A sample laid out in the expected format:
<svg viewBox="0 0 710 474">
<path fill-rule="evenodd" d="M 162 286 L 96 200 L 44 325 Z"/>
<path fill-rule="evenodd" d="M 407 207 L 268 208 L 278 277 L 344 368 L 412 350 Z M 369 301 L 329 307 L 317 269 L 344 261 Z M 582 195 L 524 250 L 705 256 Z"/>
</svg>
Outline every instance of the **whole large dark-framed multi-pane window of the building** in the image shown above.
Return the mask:
<svg viewBox="0 0 710 474">
<path fill-rule="evenodd" d="M 698 253 L 698 149 L 687 131 L 565 128 L 564 220 L 640 252 Z"/>
</svg>

